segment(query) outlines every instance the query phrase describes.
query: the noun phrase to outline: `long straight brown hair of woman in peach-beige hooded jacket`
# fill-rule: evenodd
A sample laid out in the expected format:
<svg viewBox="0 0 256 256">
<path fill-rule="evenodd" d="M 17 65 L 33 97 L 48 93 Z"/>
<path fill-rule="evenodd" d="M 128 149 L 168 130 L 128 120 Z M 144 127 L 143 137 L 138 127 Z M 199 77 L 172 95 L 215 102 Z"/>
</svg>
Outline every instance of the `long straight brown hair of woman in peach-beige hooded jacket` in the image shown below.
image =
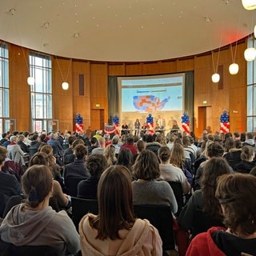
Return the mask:
<svg viewBox="0 0 256 256">
<path fill-rule="evenodd" d="M 134 226 L 130 171 L 125 166 L 110 166 L 103 172 L 98 182 L 98 216 L 89 222 L 100 240 L 118 239 L 118 230 Z"/>
</svg>

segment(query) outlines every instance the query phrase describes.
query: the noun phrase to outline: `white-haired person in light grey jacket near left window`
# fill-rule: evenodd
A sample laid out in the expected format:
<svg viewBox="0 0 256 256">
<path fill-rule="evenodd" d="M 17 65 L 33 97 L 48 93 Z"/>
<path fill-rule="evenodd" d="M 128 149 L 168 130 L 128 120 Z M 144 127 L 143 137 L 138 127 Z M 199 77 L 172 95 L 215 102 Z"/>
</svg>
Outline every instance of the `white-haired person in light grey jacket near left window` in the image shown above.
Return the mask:
<svg viewBox="0 0 256 256">
<path fill-rule="evenodd" d="M 17 142 L 18 140 L 16 136 L 13 135 L 10 137 L 10 144 L 7 146 L 8 158 L 17 162 L 21 166 L 25 166 L 24 152 L 21 147 L 18 146 Z"/>
</svg>

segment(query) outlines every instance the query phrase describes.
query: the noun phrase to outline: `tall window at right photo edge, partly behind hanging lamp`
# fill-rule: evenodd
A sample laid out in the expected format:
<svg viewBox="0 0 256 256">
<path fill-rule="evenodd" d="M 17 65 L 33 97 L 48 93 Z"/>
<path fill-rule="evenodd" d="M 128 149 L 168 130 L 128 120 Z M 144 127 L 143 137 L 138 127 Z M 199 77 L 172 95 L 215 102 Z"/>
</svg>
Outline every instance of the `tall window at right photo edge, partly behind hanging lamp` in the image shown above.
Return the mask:
<svg viewBox="0 0 256 256">
<path fill-rule="evenodd" d="M 255 47 L 254 37 L 248 39 L 247 47 Z M 256 132 L 256 60 L 247 62 L 247 131 Z"/>
</svg>

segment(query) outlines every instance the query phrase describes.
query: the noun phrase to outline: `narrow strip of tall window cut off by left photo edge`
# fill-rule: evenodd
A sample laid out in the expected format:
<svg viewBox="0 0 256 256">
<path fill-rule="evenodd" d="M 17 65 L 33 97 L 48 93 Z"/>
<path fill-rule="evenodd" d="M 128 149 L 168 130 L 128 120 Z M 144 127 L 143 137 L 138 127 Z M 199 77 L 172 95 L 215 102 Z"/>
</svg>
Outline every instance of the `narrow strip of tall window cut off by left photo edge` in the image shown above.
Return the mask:
<svg viewBox="0 0 256 256">
<path fill-rule="evenodd" d="M 9 56 L 8 46 L 0 42 L 0 132 L 10 130 L 5 118 L 10 118 L 9 106 Z"/>
</svg>

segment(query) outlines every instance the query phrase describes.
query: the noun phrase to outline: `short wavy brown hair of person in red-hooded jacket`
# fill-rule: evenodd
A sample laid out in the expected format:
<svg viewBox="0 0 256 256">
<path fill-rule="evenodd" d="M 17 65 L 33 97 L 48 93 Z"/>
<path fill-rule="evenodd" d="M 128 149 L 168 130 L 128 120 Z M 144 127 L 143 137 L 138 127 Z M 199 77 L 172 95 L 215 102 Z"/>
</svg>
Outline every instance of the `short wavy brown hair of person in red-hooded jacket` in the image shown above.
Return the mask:
<svg viewBox="0 0 256 256">
<path fill-rule="evenodd" d="M 248 236 L 256 232 L 256 177 L 226 174 L 218 178 L 216 198 L 224 208 L 224 224 L 231 233 Z"/>
</svg>

